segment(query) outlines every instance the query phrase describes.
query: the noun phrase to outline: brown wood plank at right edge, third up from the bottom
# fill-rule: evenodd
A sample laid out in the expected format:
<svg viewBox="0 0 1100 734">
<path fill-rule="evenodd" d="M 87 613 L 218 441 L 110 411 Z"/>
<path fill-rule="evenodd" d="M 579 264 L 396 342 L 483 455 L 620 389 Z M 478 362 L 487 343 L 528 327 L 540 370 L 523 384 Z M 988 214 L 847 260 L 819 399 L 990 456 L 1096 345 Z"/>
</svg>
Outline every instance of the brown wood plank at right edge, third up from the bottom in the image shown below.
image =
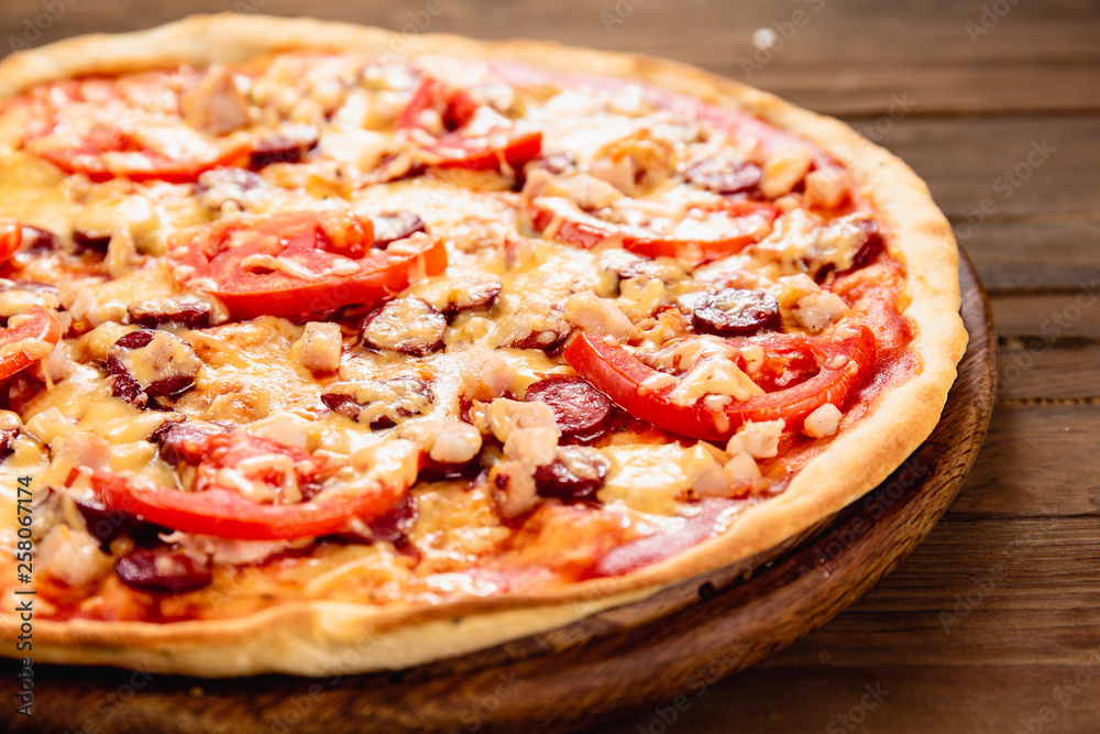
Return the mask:
<svg viewBox="0 0 1100 734">
<path fill-rule="evenodd" d="M 998 405 L 959 499 L 947 516 L 1100 512 L 1098 405 Z"/>
</svg>

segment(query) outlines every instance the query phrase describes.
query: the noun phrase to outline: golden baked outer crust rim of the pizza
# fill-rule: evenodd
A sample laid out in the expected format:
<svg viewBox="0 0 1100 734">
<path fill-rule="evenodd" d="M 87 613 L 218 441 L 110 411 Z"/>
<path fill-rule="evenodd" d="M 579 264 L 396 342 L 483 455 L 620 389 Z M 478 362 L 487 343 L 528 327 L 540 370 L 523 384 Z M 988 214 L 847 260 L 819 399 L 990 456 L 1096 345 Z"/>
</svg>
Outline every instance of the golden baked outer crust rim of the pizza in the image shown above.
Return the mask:
<svg viewBox="0 0 1100 734">
<path fill-rule="evenodd" d="M 28 87 L 91 73 L 178 64 L 244 62 L 302 48 L 380 56 L 448 53 L 529 62 L 559 72 L 640 79 L 719 106 L 747 110 L 816 143 L 855 176 L 892 233 L 889 254 L 906 269 L 916 374 L 881 394 L 869 413 L 811 461 L 780 495 L 747 507 L 721 536 L 640 571 L 503 599 L 432 609 L 377 610 L 309 601 L 235 620 L 158 625 L 37 620 L 34 656 L 43 662 L 106 664 L 153 672 L 232 677 L 264 672 L 330 676 L 399 669 L 546 632 L 644 599 L 796 536 L 866 494 L 932 432 L 955 382 L 967 335 L 958 315 L 958 249 L 924 182 L 908 165 L 838 120 L 773 95 L 674 62 L 586 51 L 541 41 L 480 42 L 407 36 L 310 19 L 199 15 L 148 31 L 86 35 L 0 63 L 0 99 Z M 18 621 L 0 620 L 4 654 L 15 656 Z"/>
</svg>

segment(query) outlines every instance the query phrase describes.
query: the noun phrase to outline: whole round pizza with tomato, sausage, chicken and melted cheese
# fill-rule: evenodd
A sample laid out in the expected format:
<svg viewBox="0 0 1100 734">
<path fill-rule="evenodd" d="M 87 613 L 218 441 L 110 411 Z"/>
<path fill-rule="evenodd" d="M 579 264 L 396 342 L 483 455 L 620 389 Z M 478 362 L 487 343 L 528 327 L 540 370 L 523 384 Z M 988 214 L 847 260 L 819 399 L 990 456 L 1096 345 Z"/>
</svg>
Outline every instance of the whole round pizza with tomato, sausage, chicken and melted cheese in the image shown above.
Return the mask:
<svg viewBox="0 0 1100 734">
<path fill-rule="evenodd" d="M 208 677 L 560 627 L 860 497 L 966 344 L 902 162 L 672 62 L 197 17 L 0 100 L 6 655 L 29 590 Z"/>
</svg>

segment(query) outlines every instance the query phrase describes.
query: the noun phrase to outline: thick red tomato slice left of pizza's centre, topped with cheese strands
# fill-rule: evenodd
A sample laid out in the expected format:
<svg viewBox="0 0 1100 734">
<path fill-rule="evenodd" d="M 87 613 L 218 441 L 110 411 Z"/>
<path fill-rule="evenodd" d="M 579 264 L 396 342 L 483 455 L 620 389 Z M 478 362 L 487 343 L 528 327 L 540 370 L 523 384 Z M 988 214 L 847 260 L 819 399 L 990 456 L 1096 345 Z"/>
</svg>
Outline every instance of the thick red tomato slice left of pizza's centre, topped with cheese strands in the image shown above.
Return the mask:
<svg viewBox="0 0 1100 734">
<path fill-rule="evenodd" d="M 169 258 L 177 277 L 217 295 L 240 320 L 374 304 L 447 269 L 441 240 L 414 234 L 385 251 L 373 242 L 370 220 L 296 211 L 216 222 Z"/>
</svg>

